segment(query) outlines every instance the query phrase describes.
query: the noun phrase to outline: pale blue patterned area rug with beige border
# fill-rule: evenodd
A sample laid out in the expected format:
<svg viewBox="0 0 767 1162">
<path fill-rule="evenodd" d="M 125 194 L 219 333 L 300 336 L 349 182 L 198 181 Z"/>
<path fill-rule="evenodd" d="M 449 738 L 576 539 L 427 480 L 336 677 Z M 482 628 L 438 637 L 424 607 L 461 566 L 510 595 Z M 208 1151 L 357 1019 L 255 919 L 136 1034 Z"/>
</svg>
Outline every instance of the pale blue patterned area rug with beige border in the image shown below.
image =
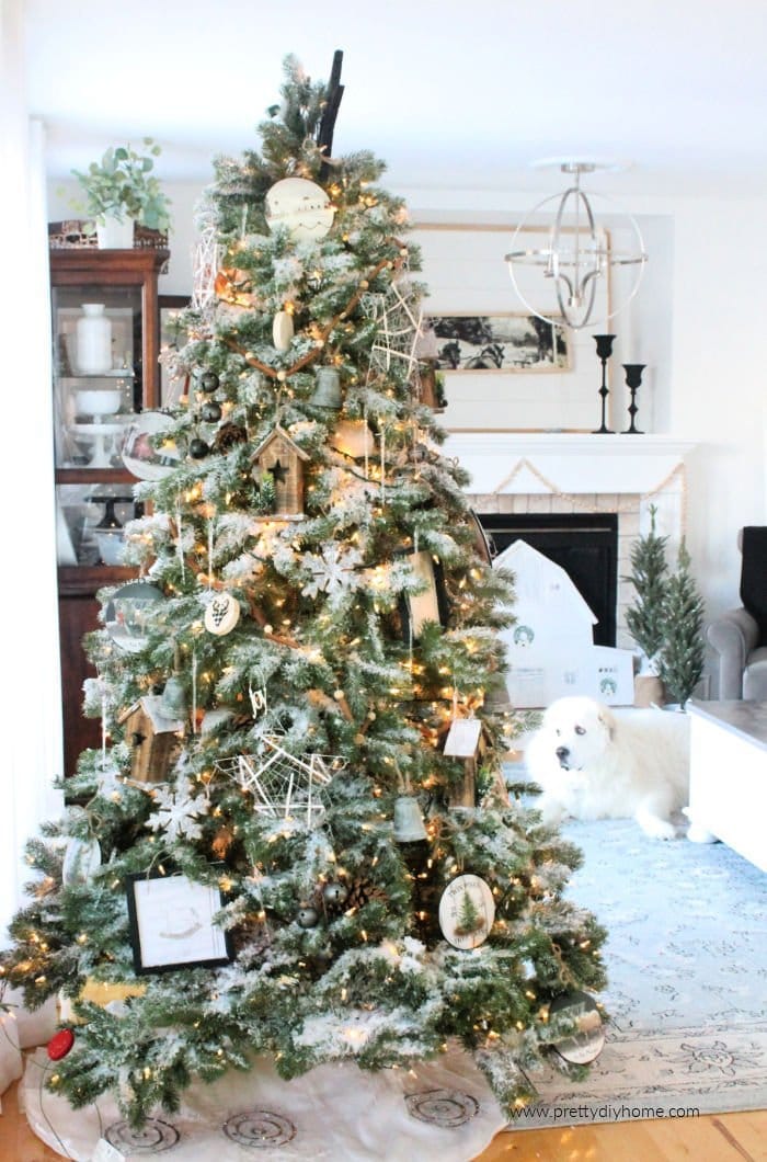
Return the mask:
<svg viewBox="0 0 767 1162">
<path fill-rule="evenodd" d="M 629 819 L 562 834 L 585 856 L 568 895 L 609 933 L 610 1023 L 586 1081 L 531 1075 L 540 1098 L 514 1128 L 767 1107 L 767 875 Z"/>
</svg>

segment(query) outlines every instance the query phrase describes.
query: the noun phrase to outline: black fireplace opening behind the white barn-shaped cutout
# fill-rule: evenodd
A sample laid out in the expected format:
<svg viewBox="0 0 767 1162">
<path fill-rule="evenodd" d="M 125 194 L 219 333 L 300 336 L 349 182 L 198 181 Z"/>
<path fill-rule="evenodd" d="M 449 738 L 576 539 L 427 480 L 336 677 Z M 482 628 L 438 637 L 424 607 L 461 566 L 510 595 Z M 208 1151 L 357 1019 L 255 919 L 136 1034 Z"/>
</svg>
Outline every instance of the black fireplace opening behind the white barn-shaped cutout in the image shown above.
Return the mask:
<svg viewBox="0 0 767 1162">
<path fill-rule="evenodd" d="M 596 618 L 594 645 L 614 646 L 618 595 L 617 512 L 478 512 L 494 553 L 525 540 L 565 569 Z"/>
</svg>

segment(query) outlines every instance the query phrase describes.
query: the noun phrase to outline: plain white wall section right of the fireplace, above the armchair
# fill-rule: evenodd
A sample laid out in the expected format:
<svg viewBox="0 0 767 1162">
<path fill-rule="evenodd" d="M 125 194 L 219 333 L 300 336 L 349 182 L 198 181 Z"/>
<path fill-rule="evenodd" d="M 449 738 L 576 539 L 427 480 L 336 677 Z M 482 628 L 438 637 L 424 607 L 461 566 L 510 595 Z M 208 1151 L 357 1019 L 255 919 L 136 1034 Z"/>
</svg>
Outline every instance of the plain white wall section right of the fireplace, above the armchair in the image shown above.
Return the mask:
<svg viewBox="0 0 767 1162">
<path fill-rule="evenodd" d="M 766 524 L 761 201 L 689 200 L 676 215 L 672 424 L 700 442 L 690 551 L 711 612 L 737 604 L 738 529 Z"/>
</svg>

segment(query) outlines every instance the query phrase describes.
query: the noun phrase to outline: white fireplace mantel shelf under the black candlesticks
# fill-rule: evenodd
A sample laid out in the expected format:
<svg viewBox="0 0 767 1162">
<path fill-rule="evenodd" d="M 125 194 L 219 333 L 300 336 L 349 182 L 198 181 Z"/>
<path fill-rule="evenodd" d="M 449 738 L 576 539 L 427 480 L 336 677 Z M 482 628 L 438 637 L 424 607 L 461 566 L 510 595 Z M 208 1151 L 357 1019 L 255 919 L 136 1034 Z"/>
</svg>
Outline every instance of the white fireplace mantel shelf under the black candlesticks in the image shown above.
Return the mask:
<svg viewBox="0 0 767 1162">
<path fill-rule="evenodd" d="M 472 494 L 639 493 L 659 488 L 696 447 L 676 436 L 454 431 L 443 451 Z"/>
</svg>

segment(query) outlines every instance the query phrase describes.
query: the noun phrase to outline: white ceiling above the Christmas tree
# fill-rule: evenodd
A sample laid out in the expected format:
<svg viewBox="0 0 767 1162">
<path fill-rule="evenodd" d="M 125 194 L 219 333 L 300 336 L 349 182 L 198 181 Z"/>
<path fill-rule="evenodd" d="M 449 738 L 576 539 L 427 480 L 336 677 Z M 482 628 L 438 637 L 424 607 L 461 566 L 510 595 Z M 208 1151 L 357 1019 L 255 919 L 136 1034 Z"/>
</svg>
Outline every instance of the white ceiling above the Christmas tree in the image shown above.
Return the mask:
<svg viewBox="0 0 767 1162">
<path fill-rule="evenodd" d="M 551 156 L 628 160 L 607 189 L 767 193 L 767 0 L 26 0 L 30 112 L 65 175 L 151 135 L 162 178 L 258 144 L 289 52 L 344 52 L 335 152 L 396 187 L 552 185 Z M 611 182 L 611 185 L 605 185 Z M 554 186 L 558 188 L 558 184 Z"/>
</svg>

